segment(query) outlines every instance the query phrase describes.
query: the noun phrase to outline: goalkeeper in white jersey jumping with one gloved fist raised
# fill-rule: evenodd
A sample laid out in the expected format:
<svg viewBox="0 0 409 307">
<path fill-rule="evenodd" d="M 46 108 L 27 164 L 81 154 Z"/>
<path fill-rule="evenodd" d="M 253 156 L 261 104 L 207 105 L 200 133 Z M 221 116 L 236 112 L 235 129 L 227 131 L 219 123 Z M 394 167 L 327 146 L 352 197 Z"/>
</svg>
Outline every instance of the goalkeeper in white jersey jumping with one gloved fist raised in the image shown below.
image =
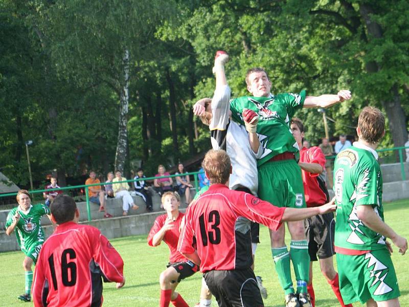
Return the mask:
<svg viewBox="0 0 409 307">
<path fill-rule="evenodd" d="M 260 146 L 256 134 L 258 117 L 254 111 L 245 110 L 243 112 L 245 126 L 231 121 L 231 112 L 229 110 L 231 91 L 224 73 L 224 64 L 228 59 L 229 55 L 224 51 L 216 52 L 213 67 L 213 73 L 216 77 L 216 89 L 213 99 L 200 99 L 193 106 L 193 112 L 200 117 L 203 123 L 209 125 L 212 148 L 225 150 L 231 159 L 234 171 L 230 176 L 229 187 L 257 196 L 256 159 L 261 158 L 263 154 L 263 147 Z M 257 244 L 260 243 L 259 224 L 251 223 L 246 218 L 241 217 L 236 223 L 236 228 L 241 230 L 238 234 L 246 236 L 249 242 L 240 250 L 246 252 L 246 249 L 251 248 L 254 258 Z M 252 267 L 254 269 L 254 262 Z M 267 298 L 267 290 L 263 287 L 261 277 L 256 277 L 261 295 L 265 299 Z"/>
</svg>

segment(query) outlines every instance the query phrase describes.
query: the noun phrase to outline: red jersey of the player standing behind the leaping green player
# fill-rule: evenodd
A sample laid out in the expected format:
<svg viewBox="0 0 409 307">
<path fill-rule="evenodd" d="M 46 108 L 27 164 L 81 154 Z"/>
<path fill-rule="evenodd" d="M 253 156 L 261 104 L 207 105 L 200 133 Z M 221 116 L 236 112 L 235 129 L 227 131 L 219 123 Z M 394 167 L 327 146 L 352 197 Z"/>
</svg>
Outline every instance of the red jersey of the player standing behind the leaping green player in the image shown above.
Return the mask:
<svg viewBox="0 0 409 307">
<path fill-rule="evenodd" d="M 320 147 L 303 147 L 300 150 L 300 162 L 318 163 L 325 169 L 326 159 Z M 320 174 L 313 174 L 304 169 L 302 169 L 302 176 L 307 207 L 318 207 L 329 201 L 325 178 L 321 179 Z"/>
</svg>

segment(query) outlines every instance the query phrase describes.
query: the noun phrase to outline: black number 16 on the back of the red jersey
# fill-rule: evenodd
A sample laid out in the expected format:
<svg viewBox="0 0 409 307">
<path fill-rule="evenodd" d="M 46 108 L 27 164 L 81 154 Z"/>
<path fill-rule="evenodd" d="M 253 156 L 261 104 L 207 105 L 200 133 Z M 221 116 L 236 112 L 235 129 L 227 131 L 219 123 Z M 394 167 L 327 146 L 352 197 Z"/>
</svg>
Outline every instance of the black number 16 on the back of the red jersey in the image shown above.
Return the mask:
<svg viewBox="0 0 409 307">
<path fill-rule="evenodd" d="M 61 278 L 62 284 L 65 287 L 74 286 L 77 283 L 77 264 L 75 262 L 67 262 L 67 256 L 71 259 L 75 259 L 77 255 L 72 248 L 65 249 L 61 254 Z M 53 279 L 53 286 L 55 290 L 58 290 L 57 277 L 55 275 L 54 267 L 54 253 L 48 258 L 48 264 L 50 265 L 51 278 Z M 69 274 L 70 271 L 70 274 Z M 69 279 L 71 275 L 71 279 Z"/>
</svg>

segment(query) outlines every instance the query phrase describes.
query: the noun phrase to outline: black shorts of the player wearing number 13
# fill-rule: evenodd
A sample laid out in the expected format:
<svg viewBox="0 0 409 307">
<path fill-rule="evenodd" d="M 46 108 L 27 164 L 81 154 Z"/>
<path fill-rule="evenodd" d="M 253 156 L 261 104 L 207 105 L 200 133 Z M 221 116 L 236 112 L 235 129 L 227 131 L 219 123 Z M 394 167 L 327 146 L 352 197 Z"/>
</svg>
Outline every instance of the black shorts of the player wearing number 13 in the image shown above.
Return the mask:
<svg viewBox="0 0 409 307">
<path fill-rule="evenodd" d="M 203 274 L 219 307 L 264 306 L 256 276 L 251 268 L 231 271 L 209 271 Z"/>
</svg>

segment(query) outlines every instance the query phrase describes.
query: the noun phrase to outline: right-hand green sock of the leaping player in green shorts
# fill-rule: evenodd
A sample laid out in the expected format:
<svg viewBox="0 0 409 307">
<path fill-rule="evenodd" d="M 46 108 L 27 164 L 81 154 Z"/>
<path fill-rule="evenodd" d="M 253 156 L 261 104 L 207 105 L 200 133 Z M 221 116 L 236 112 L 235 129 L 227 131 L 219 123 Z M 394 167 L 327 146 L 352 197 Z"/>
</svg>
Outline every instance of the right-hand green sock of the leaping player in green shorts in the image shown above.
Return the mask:
<svg viewBox="0 0 409 307">
<path fill-rule="evenodd" d="M 294 273 L 296 273 L 297 293 L 307 293 L 307 282 L 310 278 L 310 255 L 307 240 L 291 240 L 290 254 Z"/>
</svg>

